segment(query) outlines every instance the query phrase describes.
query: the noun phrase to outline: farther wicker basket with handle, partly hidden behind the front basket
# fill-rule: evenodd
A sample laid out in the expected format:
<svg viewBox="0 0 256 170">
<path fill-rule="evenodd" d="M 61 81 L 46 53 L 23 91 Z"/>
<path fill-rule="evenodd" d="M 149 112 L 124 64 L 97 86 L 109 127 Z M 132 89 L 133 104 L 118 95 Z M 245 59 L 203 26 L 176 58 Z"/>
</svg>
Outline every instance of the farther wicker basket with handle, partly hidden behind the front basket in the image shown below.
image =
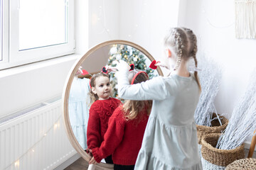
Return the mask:
<svg viewBox="0 0 256 170">
<path fill-rule="evenodd" d="M 216 113 L 213 113 L 213 118 L 216 118 L 216 117 L 217 117 Z M 201 142 L 202 142 L 201 140 L 203 135 L 207 135 L 209 133 L 220 133 L 223 130 L 225 130 L 225 128 L 228 125 L 228 119 L 220 115 L 220 120 L 222 125 L 220 125 L 218 119 L 211 121 L 211 125 L 212 125 L 211 127 L 205 126 L 205 125 L 196 125 L 197 135 L 198 135 L 198 144 L 201 145 Z"/>
</svg>

